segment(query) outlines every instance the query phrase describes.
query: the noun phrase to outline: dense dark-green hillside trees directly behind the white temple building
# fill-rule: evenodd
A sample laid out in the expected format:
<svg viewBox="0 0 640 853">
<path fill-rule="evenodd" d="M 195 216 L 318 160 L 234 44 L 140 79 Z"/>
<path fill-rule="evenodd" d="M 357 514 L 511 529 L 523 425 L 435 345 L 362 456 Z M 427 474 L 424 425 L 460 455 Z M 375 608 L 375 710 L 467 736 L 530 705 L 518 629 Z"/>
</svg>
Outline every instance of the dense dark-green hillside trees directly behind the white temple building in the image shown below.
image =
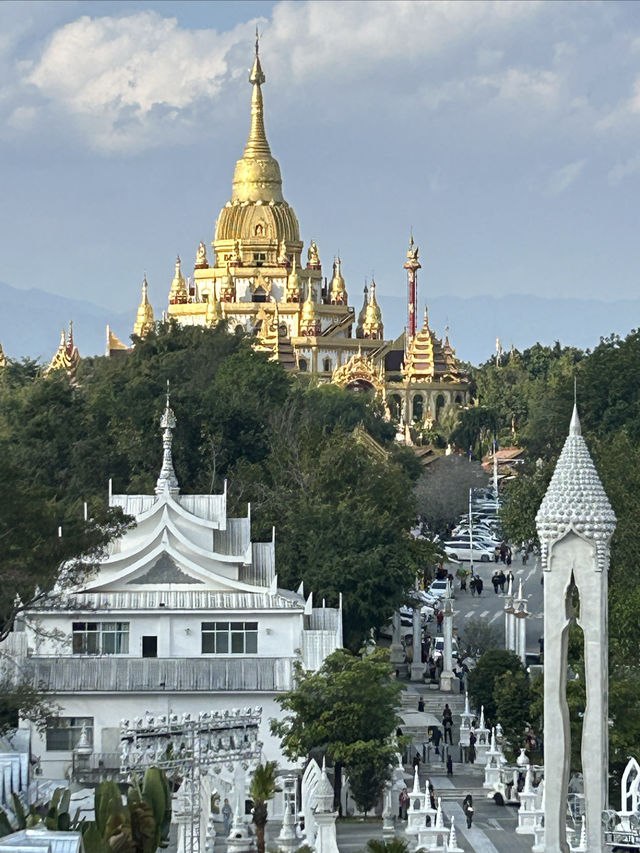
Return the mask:
<svg viewBox="0 0 640 853">
<path fill-rule="evenodd" d="M 85 555 L 83 568 L 95 562 L 124 523 L 105 510 L 109 479 L 116 492 L 153 490 L 167 379 L 181 490 L 221 491 L 228 479 L 229 511 L 244 514 L 251 503 L 254 538 L 270 539 L 276 529 L 281 586 L 304 581 L 331 605 L 342 593 L 345 641 L 359 648 L 435 556 L 409 535 L 416 460 L 396 449 L 372 396 L 291 377 L 224 324 L 158 324 L 126 357 L 82 360 L 76 384 L 63 371 L 45 377 L 32 362 L 0 371 L 0 451 L 9 460 L 5 481 L 15 484 L 2 499 L 5 527 L 13 519 L 34 546 L 15 568 L 3 549 L 10 583 L 2 595 L 12 600 L 30 583 L 35 589 L 33 572 L 23 573 L 28 559 L 40 590 L 51 587 L 46 567 L 77 555 Z M 379 452 L 358 441 L 356 427 Z M 86 530 L 84 501 L 94 521 Z M 37 537 L 59 525 L 63 538 L 46 538 L 49 553 Z M 0 601 L 6 625 L 11 612 Z"/>
</svg>

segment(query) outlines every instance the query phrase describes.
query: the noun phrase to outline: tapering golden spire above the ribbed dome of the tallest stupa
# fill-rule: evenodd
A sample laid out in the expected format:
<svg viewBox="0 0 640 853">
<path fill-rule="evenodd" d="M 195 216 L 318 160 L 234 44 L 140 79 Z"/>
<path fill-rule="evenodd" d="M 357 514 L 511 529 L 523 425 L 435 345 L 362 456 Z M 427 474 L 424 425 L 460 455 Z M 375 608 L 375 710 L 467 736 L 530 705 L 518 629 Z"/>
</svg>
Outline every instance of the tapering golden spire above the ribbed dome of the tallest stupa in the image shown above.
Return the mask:
<svg viewBox="0 0 640 853">
<path fill-rule="evenodd" d="M 242 159 L 236 163 L 233 176 L 234 202 L 278 202 L 282 197 L 282 177 L 278 161 L 272 156 L 264 129 L 262 89 L 266 77 L 260 64 L 259 38 L 256 30 L 256 56 L 249 74 L 251 93 L 251 128 Z"/>
</svg>

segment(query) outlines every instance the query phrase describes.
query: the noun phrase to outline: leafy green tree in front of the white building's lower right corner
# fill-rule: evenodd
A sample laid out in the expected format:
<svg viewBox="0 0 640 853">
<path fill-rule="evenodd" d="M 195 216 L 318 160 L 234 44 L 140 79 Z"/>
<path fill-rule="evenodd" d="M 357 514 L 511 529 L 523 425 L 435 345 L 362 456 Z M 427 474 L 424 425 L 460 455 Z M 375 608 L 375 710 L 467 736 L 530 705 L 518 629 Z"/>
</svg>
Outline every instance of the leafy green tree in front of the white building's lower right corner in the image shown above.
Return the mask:
<svg viewBox="0 0 640 853">
<path fill-rule="evenodd" d="M 284 754 L 295 760 L 313 750 L 344 766 L 356 802 L 371 808 L 390 778 L 398 751 L 395 738 L 402 685 L 393 677 L 386 650 L 358 657 L 336 651 L 315 673 L 297 670 L 297 687 L 279 696 L 284 716 L 271 720 Z"/>
</svg>

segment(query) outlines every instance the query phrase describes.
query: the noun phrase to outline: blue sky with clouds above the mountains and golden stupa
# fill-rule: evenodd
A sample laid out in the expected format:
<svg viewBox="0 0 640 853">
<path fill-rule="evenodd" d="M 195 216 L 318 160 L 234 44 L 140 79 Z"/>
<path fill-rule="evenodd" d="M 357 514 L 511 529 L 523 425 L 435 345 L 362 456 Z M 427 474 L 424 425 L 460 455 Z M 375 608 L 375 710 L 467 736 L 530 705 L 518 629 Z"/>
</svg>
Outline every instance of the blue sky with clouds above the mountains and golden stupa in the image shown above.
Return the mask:
<svg viewBox="0 0 640 853">
<path fill-rule="evenodd" d="M 352 302 L 372 273 L 383 305 L 404 296 L 411 227 L 421 302 L 637 295 L 624 2 L 5 0 L 0 278 L 115 312 L 146 271 L 161 311 L 230 196 L 256 23 L 285 198 Z"/>
</svg>

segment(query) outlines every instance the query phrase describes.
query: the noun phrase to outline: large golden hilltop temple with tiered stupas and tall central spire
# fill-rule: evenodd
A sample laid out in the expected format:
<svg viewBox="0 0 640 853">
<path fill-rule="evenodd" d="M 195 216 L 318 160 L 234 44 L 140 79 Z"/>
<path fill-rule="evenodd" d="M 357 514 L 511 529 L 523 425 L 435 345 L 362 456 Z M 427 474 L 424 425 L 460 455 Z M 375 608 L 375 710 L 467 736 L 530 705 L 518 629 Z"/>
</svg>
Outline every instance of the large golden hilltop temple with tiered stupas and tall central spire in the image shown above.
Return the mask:
<svg viewBox="0 0 640 853">
<path fill-rule="evenodd" d="M 167 315 L 182 324 L 208 327 L 225 321 L 230 332 L 240 328 L 252 335 L 256 349 L 288 371 L 374 391 L 405 424 L 424 423 L 443 407 L 468 403 L 469 385 L 448 337 L 442 344 L 425 321 L 414 337 L 405 332 L 396 340 L 385 339 L 375 282 L 365 286 L 356 317 L 340 257 L 334 257 L 331 274 L 325 276 L 314 240 L 305 252 L 267 140 L 265 79 L 256 41 L 249 75 L 249 136 L 235 166 L 231 197 L 220 211 L 210 248 L 204 242 L 197 246 L 193 270 L 185 272 L 181 258 L 176 259 Z M 420 265 L 413 238 L 407 257 L 415 302 Z M 144 337 L 153 325 L 145 277 L 134 334 Z M 109 334 L 113 354 L 126 349 Z"/>
</svg>

